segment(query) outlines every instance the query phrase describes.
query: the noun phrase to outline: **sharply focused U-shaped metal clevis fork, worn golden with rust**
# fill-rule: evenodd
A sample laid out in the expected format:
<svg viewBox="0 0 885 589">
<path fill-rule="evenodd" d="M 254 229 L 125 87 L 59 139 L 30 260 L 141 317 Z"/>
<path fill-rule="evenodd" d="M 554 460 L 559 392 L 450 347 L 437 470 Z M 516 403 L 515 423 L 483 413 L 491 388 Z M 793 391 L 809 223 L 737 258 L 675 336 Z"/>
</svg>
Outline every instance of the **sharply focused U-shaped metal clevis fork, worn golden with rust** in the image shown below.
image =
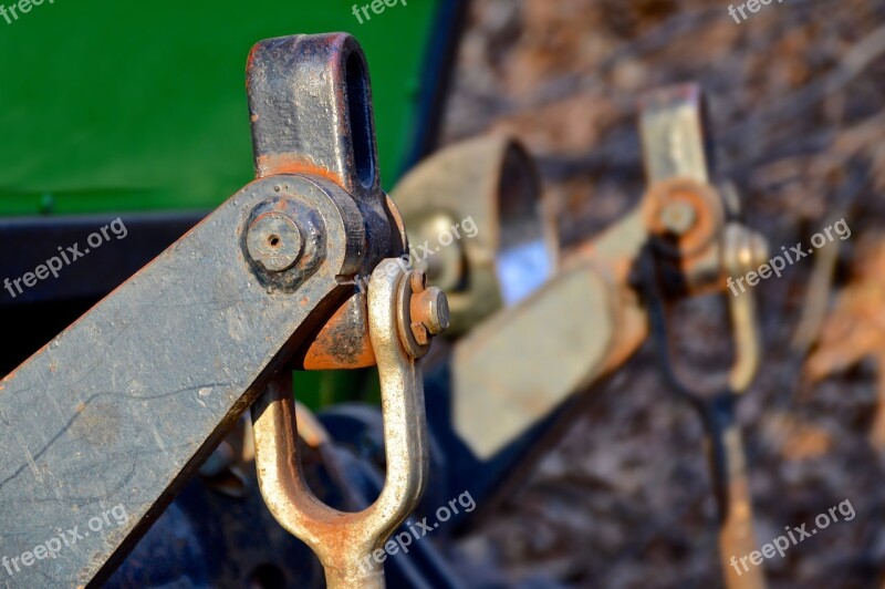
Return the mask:
<svg viewBox="0 0 885 589">
<path fill-rule="evenodd" d="M 256 465 L 261 493 L 273 516 L 310 546 L 332 589 L 384 587 L 384 569 L 373 558 L 420 500 L 427 484 L 424 385 L 416 358 L 400 343 L 400 286 L 410 282 L 396 260 L 372 273 L 368 290 L 369 335 L 378 363 L 384 412 L 387 479 L 378 499 L 357 514 L 320 503 L 304 480 L 291 380 L 281 375 L 252 407 Z"/>
</svg>

